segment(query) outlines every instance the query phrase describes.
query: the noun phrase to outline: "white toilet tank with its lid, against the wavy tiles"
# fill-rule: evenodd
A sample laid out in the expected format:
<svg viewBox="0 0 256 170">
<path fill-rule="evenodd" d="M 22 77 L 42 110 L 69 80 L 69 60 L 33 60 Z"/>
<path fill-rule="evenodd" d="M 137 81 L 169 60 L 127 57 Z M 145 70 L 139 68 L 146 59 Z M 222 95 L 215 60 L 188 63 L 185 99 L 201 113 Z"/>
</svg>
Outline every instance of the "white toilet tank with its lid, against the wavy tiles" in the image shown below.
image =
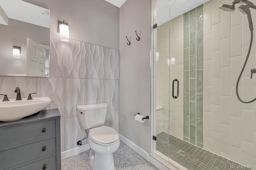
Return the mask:
<svg viewBox="0 0 256 170">
<path fill-rule="evenodd" d="M 108 104 L 89 104 L 77 106 L 78 122 L 84 129 L 102 126 L 105 123 Z"/>
</svg>

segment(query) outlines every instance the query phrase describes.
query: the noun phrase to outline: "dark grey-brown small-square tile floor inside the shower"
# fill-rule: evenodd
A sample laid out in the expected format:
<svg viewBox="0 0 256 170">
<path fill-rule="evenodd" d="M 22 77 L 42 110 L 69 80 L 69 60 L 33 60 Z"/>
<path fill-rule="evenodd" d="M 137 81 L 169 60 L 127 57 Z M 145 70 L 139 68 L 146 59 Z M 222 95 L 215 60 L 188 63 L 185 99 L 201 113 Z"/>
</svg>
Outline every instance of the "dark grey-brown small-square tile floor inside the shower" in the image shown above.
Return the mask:
<svg viewBox="0 0 256 170">
<path fill-rule="evenodd" d="M 188 170 L 232 170 L 231 165 L 240 165 L 165 132 L 156 138 L 156 150 Z"/>
</svg>

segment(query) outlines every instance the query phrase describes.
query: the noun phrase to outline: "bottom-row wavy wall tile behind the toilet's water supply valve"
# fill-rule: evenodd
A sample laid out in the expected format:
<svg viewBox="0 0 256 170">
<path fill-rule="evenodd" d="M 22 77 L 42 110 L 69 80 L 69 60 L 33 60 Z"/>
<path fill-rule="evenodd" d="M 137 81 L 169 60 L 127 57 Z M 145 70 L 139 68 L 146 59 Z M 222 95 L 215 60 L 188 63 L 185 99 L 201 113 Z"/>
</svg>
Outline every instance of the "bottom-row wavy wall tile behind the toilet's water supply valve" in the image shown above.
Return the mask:
<svg viewBox="0 0 256 170">
<path fill-rule="evenodd" d="M 77 141 L 80 141 L 86 133 L 78 123 L 78 117 L 65 118 L 65 150 L 78 147 Z M 82 141 L 82 145 L 88 143 L 88 139 Z"/>
</svg>

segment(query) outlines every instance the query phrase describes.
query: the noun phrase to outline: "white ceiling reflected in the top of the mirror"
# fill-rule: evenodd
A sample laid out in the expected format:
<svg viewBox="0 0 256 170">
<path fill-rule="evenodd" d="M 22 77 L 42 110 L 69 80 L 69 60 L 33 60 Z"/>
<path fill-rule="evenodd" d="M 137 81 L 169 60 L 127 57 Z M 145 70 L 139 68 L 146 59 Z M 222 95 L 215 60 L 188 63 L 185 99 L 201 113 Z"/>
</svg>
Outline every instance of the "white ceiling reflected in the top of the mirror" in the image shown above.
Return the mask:
<svg viewBox="0 0 256 170">
<path fill-rule="evenodd" d="M 48 9 L 22 0 L 0 0 L 0 6 L 8 18 L 50 28 L 50 10 Z"/>
</svg>

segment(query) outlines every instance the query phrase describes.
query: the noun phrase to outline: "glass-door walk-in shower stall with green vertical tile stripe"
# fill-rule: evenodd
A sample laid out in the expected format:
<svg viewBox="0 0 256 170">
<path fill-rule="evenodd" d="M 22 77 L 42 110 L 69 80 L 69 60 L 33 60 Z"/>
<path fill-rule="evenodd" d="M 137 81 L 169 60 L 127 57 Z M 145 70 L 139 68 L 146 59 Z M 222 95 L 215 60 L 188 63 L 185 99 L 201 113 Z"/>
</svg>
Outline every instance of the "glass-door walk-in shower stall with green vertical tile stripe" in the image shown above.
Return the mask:
<svg viewBox="0 0 256 170">
<path fill-rule="evenodd" d="M 152 152 L 178 169 L 254 169 L 256 105 L 236 95 L 256 92 L 250 20 L 221 0 L 196 3 L 182 12 L 182 2 L 152 0 Z"/>
</svg>

